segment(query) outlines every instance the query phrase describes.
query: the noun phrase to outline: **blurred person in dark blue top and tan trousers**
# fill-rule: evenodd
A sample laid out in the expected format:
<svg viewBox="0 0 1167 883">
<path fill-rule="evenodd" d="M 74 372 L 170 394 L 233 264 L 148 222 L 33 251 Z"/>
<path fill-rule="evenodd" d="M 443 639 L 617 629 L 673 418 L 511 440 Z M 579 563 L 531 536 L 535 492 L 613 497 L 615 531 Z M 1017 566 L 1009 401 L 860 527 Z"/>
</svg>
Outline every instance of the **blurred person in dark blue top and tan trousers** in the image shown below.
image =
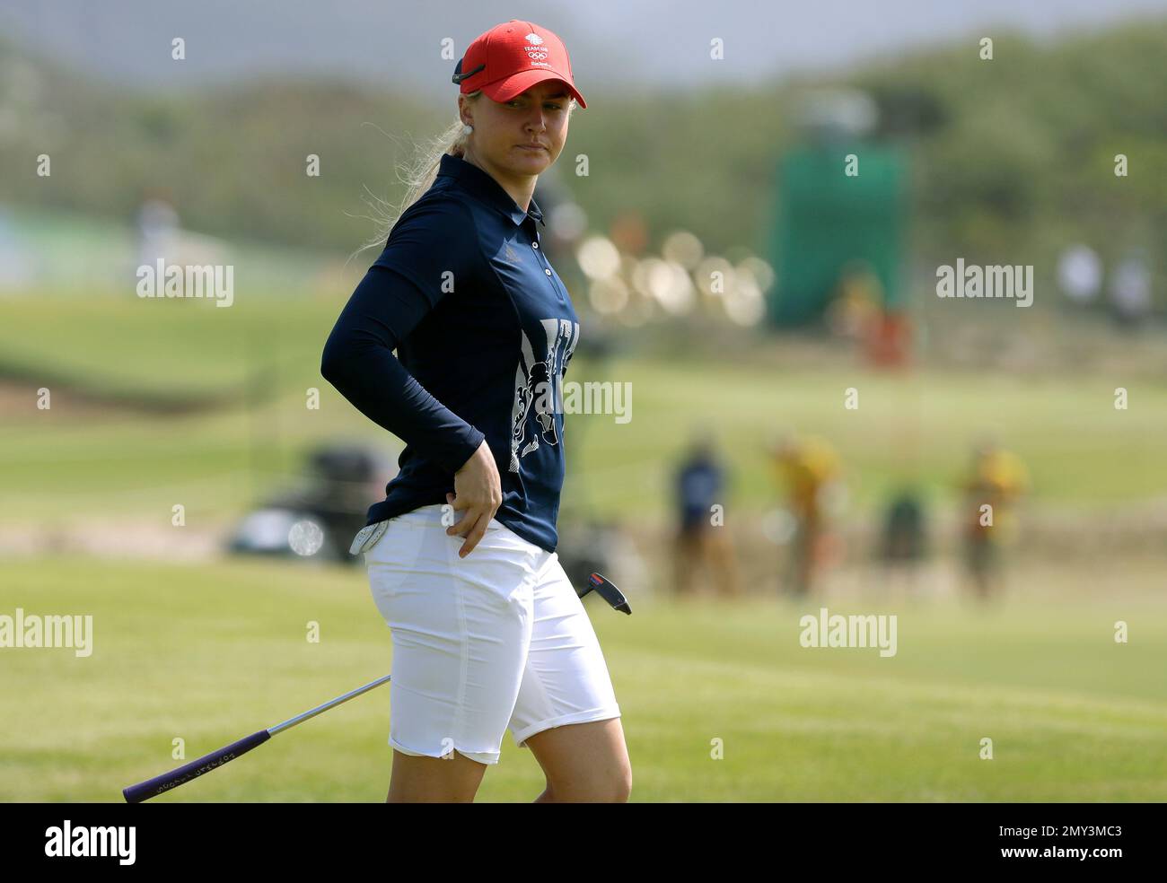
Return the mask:
<svg viewBox="0 0 1167 883">
<path fill-rule="evenodd" d="M 724 523 L 714 521 L 712 507 L 726 504 L 726 476 L 718 462 L 713 436 L 693 435 L 690 450 L 676 476 L 679 524 L 673 556 L 677 595 L 693 594 L 693 580 L 706 577 L 722 597 L 741 594 L 733 544 Z"/>
</svg>

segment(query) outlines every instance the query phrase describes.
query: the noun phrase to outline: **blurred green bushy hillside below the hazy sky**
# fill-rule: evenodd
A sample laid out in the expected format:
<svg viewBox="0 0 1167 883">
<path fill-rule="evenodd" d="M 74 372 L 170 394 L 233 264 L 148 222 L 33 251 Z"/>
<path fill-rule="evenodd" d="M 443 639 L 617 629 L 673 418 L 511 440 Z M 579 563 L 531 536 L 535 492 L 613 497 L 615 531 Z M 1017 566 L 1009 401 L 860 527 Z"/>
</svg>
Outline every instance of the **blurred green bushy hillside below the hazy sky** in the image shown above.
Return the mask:
<svg viewBox="0 0 1167 883">
<path fill-rule="evenodd" d="M 558 171 L 593 229 L 641 211 L 655 238 L 675 227 L 712 250 L 764 253 L 775 163 L 809 86 L 868 90 L 881 135 L 915 159 L 915 251 L 986 261 L 1068 238 L 1104 259 L 1128 244 L 1163 254 L 1167 19 L 1058 42 L 980 34 L 813 79 L 687 96 L 628 93 L 578 111 Z M 130 219 L 165 188 L 184 226 L 229 239 L 348 253 L 372 232 L 365 188 L 396 201 L 394 163 L 453 121 L 418 103 L 327 79 L 252 79 L 182 93 L 127 94 L 0 42 L 0 202 Z M 144 84 L 148 85 L 148 84 Z M 53 156 L 53 175 L 35 157 Z M 321 176 L 305 174 L 319 154 Z M 1113 156 L 1130 157 L 1130 177 Z M 589 175 L 574 157 L 587 154 Z M 1160 258 L 1161 260 L 1162 258 Z"/>
</svg>

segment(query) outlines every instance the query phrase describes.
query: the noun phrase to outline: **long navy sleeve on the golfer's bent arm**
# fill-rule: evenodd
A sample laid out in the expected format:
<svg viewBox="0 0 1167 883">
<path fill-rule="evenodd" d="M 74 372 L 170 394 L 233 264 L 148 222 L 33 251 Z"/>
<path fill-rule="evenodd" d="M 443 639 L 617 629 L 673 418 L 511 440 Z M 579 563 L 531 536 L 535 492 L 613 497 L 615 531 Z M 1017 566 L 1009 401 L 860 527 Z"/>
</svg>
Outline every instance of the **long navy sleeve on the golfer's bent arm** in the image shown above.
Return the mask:
<svg viewBox="0 0 1167 883">
<path fill-rule="evenodd" d="M 361 413 L 454 474 L 485 435 L 438 401 L 393 355 L 441 300 L 442 274 L 468 274 L 435 236 L 435 222 L 466 218 L 453 204 L 403 215 L 337 318 L 320 372 Z"/>
</svg>

